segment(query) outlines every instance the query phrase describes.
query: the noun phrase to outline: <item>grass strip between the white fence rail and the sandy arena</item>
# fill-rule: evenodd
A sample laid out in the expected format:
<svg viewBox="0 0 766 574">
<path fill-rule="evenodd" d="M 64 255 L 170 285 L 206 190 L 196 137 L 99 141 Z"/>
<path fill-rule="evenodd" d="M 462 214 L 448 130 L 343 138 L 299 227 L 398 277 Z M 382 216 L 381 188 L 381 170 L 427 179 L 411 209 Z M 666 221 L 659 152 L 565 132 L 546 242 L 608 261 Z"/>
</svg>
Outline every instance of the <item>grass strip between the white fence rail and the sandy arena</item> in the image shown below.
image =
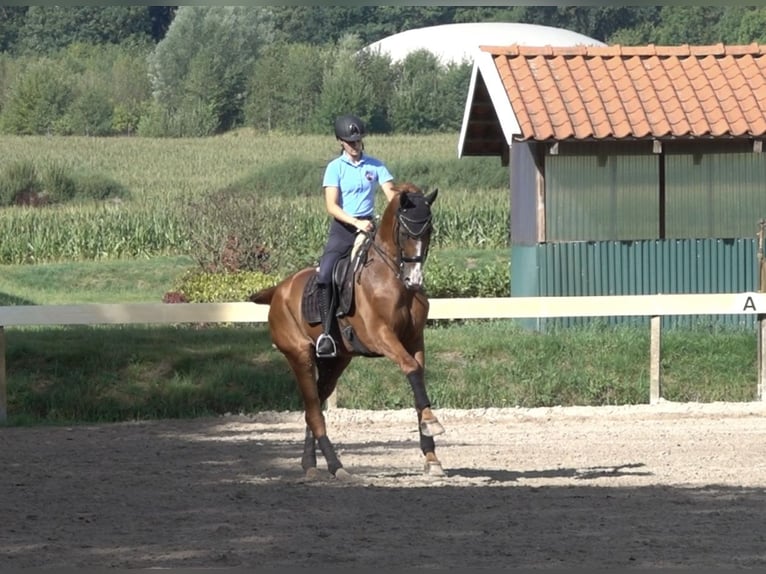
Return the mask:
<svg viewBox="0 0 766 574">
<path fill-rule="evenodd" d="M 437 408 L 646 403 L 649 334 L 639 327 L 526 331 L 513 321 L 426 329 Z M 9 424 L 193 417 L 300 410 L 291 372 L 266 325 L 9 328 Z M 754 333 L 667 333 L 663 396 L 754 400 Z M 340 407 L 408 408 L 389 360 L 352 361 Z"/>
</svg>

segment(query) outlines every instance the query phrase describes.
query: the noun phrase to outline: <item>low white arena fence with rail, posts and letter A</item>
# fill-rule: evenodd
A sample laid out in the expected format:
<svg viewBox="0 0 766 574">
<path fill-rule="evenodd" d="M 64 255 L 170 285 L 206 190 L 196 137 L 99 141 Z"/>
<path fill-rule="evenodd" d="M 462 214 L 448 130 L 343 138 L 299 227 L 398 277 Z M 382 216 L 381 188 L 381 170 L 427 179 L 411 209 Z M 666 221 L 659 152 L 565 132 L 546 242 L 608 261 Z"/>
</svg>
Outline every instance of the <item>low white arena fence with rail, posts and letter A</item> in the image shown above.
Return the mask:
<svg viewBox="0 0 766 574">
<path fill-rule="evenodd" d="M 0 307 L 0 422 L 7 418 L 5 327 L 25 325 L 123 325 L 262 323 L 268 306 L 254 303 L 111 303 Z M 766 293 L 616 295 L 602 297 L 489 297 L 431 299 L 429 319 L 524 319 L 555 317 L 650 317 L 649 402 L 661 395 L 661 332 L 664 315 L 758 317 L 757 396 L 766 390 Z"/>
</svg>

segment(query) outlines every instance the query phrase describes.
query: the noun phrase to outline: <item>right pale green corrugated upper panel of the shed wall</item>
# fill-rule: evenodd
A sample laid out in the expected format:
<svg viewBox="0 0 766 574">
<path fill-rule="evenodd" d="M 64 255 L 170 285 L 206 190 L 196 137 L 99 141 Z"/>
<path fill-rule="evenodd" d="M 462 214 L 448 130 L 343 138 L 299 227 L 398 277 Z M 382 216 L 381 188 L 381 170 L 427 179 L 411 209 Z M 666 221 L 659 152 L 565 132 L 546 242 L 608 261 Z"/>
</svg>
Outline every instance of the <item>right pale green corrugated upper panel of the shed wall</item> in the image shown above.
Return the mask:
<svg viewBox="0 0 766 574">
<path fill-rule="evenodd" d="M 751 237 L 766 217 L 766 154 L 668 154 L 667 238 Z"/>
</svg>

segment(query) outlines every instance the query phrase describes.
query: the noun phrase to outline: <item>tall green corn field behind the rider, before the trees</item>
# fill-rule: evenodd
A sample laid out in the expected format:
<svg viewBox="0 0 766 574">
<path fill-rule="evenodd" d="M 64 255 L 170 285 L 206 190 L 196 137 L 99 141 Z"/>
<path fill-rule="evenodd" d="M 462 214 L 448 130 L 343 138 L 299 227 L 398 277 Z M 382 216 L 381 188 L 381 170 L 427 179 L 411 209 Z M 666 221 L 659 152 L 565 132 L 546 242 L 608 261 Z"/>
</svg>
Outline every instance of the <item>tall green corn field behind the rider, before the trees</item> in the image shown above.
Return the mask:
<svg viewBox="0 0 766 574">
<path fill-rule="evenodd" d="M 396 164 L 405 177 L 408 165 L 414 165 L 408 164 L 413 157 L 417 157 L 419 172 L 429 163 L 436 166 L 435 173 L 454 169 L 447 179 L 458 183 L 440 187 L 435 204 L 434 245 L 455 249 L 507 245 L 508 190 L 460 182 L 460 162 L 464 160 L 454 157 L 451 138 L 369 139 L 373 141 L 368 148 L 374 147 L 378 157 L 391 156 L 387 163 Z M 334 148 L 330 138 L 248 133 L 198 140 L 0 138 L 6 165 L 33 161 L 41 166 L 55 163 L 90 170 L 122 183 L 131 193 L 124 201 L 2 208 L 0 264 L 193 255 L 200 237 L 225 228 L 227 222 L 221 219 L 219 208 L 225 194 L 239 197 L 238 217 L 250 216 L 252 233 L 264 244 L 277 250 L 289 248 L 292 256 L 308 258 L 321 251 L 326 237 L 328 219 L 319 167 L 336 153 Z M 316 189 L 264 196 L 260 188 L 280 189 L 280 181 L 253 182 L 263 173 L 268 174 L 263 177 L 279 177 L 280 170 L 274 166 L 289 165 L 296 149 L 308 150 L 302 165 L 308 161 L 319 166 Z M 507 175 L 502 172 L 500 179 L 507 181 Z M 379 201 L 381 198 L 382 194 Z M 378 212 L 382 209 L 379 203 Z"/>
</svg>

